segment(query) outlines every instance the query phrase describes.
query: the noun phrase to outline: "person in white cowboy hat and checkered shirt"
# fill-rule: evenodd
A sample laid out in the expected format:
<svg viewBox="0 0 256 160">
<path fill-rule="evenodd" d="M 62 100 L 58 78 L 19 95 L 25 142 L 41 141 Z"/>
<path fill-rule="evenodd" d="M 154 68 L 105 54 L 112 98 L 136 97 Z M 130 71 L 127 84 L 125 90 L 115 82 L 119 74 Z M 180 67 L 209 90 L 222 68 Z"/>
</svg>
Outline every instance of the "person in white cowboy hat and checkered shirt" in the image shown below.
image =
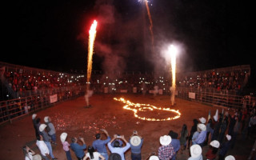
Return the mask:
<svg viewBox="0 0 256 160">
<path fill-rule="evenodd" d="M 160 137 L 160 146 L 158 148 L 158 158 L 161 160 L 168 160 L 174 157 L 174 147 L 170 144 L 170 135 L 164 135 Z"/>
</svg>

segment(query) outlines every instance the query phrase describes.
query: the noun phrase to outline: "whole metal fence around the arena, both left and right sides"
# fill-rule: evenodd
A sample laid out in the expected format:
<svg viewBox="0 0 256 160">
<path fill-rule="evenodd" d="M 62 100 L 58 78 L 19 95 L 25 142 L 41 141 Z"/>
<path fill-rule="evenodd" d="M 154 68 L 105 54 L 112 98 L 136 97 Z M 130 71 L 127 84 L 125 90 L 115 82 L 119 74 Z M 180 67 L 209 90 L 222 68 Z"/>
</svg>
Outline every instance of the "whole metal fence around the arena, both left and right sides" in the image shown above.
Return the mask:
<svg viewBox="0 0 256 160">
<path fill-rule="evenodd" d="M 21 98 L 0 102 L 0 125 L 4 122 L 11 122 L 14 118 L 20 118 L 26 114 L 46 109 L 54 106 L 58 102 L 78 98 L 85 94 L 85 86 L 65 87 L 51 90 L 27 91 Z M 213 89 L 195 90 L 186 87 L 176 89 L 176 98 L 182 98 L 194 102 L 202 102 L 211 106 L 224 106 L 228 108 L 250 108 L 255 106 L 255 98 L 247 96 L 238 96 L 232 90 L 216 91 Z M 138 91 L 123 93 L 121 90 L 108 92 L 106 90 L 97 90 L 95 94 L 142 94 Z M 51 95 L 57 95 L 57 102 L 50 102 Z M 147 92 L 146 94 L 150 94 Z M 170 95 L 170 92 L 162 92 L 163 95 Z M 192 96 L 191 96 L 192 95 Z"/>
</svg>

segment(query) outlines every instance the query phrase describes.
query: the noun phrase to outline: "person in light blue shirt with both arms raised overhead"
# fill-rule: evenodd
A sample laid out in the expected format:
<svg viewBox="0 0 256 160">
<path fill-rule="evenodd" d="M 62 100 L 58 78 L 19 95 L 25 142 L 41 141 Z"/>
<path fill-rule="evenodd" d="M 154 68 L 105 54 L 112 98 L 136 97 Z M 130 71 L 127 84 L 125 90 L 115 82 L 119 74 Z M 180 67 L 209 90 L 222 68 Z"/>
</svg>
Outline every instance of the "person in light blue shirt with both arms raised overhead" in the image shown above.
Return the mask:
<svg viewBox="0 0 256 160">
<path fill-rule="evenodd" d="M 114 142 L 116 138 L 121 138 L 122 141 L 126 143 L 126 146 L 121 147 L 118 141 Z M 114 146 L 111 146 L 111 142 L 114 142 Z M 118 136 L 117 134 L 114 134 L 114 138 L 107 143 L 107 146 L 109 147 L 111 153 L 120 154 L 122 160 L 125 160 L 125 152 L 130 148 L 130 143 L 126 141 L 124 135 Z"/>
</svg>

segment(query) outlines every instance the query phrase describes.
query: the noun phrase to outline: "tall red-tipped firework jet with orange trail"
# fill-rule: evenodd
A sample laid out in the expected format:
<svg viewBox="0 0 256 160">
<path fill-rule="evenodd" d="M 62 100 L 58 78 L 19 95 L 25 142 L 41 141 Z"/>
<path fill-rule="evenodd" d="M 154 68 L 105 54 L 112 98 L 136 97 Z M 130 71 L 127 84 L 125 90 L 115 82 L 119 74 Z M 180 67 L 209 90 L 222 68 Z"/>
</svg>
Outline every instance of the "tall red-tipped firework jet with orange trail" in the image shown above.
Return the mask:
<svg viewBox="0 0 256 160">
<path fill-rule="evenodd" d="M 94 23 L 90 26 L 89 30 L 89 44 L 88 44 L 88 58 L 87 58 L 87 81 L 86 81 L 86 91 L 90 89 L 90 76 L 93 64 L 93 54 L 94 54 L 94 41 L 96 38 L 96 27 L 97 21 L 94 20 Z"/>
</svg>

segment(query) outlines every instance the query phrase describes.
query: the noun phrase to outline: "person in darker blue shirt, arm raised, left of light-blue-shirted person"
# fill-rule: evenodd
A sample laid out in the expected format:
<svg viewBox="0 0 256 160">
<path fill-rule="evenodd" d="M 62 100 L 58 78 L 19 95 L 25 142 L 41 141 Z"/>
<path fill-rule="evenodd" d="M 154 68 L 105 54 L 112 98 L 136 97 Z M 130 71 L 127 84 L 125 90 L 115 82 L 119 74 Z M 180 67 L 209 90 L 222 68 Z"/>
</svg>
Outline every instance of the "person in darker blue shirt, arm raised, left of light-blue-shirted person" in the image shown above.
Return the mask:
<svg viewBox="0 0 256 160">
<path fill-rule="evenodd" d="M 110 142 L 110 135 L 104 129 L 102 129 L 103 134 L 106 134 L 106 139 L 102 140 L 102 134 L 96 134 L 96 140 L 93 142 L 93 147 L 98 151 L 105 159 L 108 159 L 108 154 L 106 150 L 106 144 Z"/>
</svg>

